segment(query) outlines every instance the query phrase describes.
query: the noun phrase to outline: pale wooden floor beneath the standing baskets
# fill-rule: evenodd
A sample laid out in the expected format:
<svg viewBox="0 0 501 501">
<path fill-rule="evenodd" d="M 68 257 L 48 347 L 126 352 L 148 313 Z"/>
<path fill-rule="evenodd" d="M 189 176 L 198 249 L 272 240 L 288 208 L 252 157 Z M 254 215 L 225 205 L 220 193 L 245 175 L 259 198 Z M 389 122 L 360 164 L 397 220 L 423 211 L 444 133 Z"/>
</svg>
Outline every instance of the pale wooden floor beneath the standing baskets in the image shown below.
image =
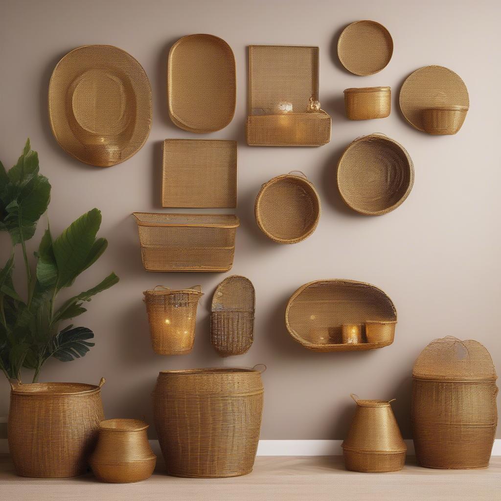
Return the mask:
<svg viewBox="0 0 501 501">
<path fill-rule="evenodd" d="M 0 499 L 6 501 L 499 501 L 501 457 L 482 470 L 433 470 L 410 460 L 397 473 L 346 471 L 339 456 L 261 456 L 253 473 L 224 479 L 174 478 L 156 472 L 143 482 L 110 484 L 76 478 L 23 478 L 0 456 Z"/>
</svg>

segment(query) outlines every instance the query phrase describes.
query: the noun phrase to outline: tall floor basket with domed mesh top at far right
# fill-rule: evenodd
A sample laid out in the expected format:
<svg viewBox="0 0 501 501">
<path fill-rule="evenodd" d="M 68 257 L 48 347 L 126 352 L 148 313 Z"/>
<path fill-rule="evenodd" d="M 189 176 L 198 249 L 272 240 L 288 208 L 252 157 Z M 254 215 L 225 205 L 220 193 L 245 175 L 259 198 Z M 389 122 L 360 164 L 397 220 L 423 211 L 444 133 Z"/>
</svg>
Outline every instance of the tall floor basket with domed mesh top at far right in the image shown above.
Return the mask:
<svg viewBox="0 0 501 501">
<path fill-rule="evenodd" d="M 416 458 L 428 468 L 484 468 L 497 425 L 497 375 L 472 339 L 432 341 L 412 370 L 411 422 Z"/>
</svg>

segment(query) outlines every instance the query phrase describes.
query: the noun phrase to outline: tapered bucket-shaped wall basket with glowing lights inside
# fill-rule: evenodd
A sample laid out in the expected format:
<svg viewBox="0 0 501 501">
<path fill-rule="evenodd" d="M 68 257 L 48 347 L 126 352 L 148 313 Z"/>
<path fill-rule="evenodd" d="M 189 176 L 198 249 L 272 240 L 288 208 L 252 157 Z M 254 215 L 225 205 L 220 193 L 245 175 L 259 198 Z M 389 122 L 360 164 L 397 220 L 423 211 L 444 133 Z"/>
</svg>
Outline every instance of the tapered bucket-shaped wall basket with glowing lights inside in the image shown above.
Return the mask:
<svg viewBox="0 0 501 501">
<path fill-rule="evenodd" d="M 163 286 L 144 291 L 151 345 L 159 355 L 186 355 L 195 342 L 200 286 L 174 291 Z"/>
</svg>

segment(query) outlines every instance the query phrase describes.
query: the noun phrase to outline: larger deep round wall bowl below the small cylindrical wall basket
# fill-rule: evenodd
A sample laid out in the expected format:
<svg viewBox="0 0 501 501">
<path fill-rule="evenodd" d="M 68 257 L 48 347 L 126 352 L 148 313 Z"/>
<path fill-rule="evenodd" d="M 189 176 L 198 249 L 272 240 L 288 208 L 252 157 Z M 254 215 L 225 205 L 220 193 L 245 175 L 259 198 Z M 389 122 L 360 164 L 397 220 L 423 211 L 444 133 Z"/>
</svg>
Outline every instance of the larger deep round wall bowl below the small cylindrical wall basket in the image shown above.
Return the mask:
<svg viewBox="0 0 501 501">
<path fill-rule="evenodd" d="M 360 214 L 386 214 L 409 195 L 414 165 L 405 148 L 384 134 L 353 141 L 338 162 L 337 183 L 345 203 Z"/>
</svg>

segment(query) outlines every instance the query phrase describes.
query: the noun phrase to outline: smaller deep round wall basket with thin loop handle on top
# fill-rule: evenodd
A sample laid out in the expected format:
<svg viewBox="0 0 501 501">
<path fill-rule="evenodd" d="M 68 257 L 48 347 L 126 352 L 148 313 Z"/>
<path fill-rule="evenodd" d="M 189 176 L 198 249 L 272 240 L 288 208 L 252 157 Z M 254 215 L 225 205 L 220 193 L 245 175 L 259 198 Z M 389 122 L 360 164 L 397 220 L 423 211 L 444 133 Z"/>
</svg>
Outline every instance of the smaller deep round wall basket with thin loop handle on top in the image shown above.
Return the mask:
<svg viewBox="0 0 501 501">
<path fill-rule="evenodd" d="M 303 172 L 292 171 L 263 184 L 254 213 L 259 228 L 268 238 L 278 243 L 297 243 L 317 228 L 320 196 Z"/>
</svg>

